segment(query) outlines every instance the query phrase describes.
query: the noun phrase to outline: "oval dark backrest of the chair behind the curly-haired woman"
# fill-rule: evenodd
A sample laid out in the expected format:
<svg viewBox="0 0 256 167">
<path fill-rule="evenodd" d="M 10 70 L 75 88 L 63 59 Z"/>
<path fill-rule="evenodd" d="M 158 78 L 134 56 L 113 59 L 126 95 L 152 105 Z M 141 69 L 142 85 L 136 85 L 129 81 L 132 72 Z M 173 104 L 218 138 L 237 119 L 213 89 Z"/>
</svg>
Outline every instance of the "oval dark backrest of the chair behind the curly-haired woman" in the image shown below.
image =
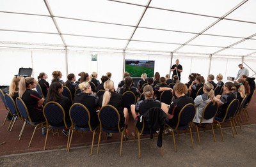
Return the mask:
<svg viewBox="0 0 256 167">
<path fill-rule="evenodd" d="M 177 129 L 180 124 L 187 125 L 189 122 L 191 122 L 194 119 L 195 114 L 196 114 L 195 105 L 193 105 L 192 103 L 185 105 L 179 113 L 178 123 L 175 129 Z"/>
</svg>

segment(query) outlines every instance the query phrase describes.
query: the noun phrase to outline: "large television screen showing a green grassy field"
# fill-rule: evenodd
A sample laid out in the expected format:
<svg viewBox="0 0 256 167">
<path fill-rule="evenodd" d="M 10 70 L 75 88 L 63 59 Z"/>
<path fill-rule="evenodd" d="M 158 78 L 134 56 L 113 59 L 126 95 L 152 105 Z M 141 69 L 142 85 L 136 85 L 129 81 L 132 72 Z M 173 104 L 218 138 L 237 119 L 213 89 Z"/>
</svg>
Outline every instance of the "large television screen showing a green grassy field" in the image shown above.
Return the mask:
<svg viewBox="0 0 256 167">
<path fill-rule="evenodd" d="M 148 77 L 154 76 L 155 61 L 125 60 L 125 71 L 131 77 L 140 77 L 142 73 L 147 73 Z"/>
</svg>

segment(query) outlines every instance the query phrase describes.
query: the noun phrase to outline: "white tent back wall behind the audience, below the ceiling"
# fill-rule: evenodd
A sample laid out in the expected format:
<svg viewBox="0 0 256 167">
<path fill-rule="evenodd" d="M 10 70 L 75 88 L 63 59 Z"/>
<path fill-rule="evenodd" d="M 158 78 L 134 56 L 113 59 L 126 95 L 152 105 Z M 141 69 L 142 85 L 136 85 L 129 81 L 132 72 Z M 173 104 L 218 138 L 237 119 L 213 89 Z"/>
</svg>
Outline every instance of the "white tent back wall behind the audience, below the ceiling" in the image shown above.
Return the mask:
<svg viewBox="0 0 256 167">
<path fill-rule="evenodd" d="M 182 64 L 183 72 L 181 74 L 181 82 L 188 82 L 190 73 L 200 73 L 207 79 L 207 75 L 211 73 L 216 76 L 219 73 L 223 75 L 223 80 L 227 80 L 227 76 L 236 77 L 239 70 L 238 64 L 243 62 L 242 57 L 210 57 L 205 56 L 182 56 L 182 55 L 154 55 L 154 54 L 132 54 L 132 53 L 116 53 L 116 52 L 96 52 L 97 62 L 92 61 L 92 53 L 90 51 L 68 50 L 67 52 L 67 68 L 65 62 L 65 50 L 25 50 L 25 49 L 0 49 L 0 59 L 3 60 L 0 66 L 0 76 L 4 78 L 0 81 L 0 85 L 10 85 L 14 75 L 17 75 L 19 68 L 33 68 L 32 76 L 37 78 L 38 74 L 45 72 L 48 75 L 47 81 L 51 83 L 51 73 L 54 70 L 60 70 L 63 73 L 62 80 L 67 80 L 67 73 L 74 73 L 76 76 L 79 72 L 85 71 L 91 74 L 93 71 L 98 73 L 98 80 L 106 72 L 112 73 L 111 80 L 114 81 L 115 87 L 122 80 L 124 72 L 124 59 L 153 60 L 155 61 L 155 73 L 158 71 L 161 76 L 170 73 L 171 64 L 175 64 L 175 60 L 179 59 Z M 172 59 L 172 62 L 171 62 Z M 209 70 L 211 62 L 211 68 Z M 244 58 L 244 66 L 249 69 L 250 76 L 255 77 L 256 59 Z M 252 69 L 250 69 L 252 68 Z M 68 71 L 66 71 L 68 69 Z M 253 70 L 253 71 L 252 71 Z M 67 72 L 67 73 L 66 73 Z M 171 73 L 172 75 L 172 73 Z M 77 76 L 77 79 L 79 77 Z M 216 82 L 216 79 L 214 80 Z"/>
</svg>

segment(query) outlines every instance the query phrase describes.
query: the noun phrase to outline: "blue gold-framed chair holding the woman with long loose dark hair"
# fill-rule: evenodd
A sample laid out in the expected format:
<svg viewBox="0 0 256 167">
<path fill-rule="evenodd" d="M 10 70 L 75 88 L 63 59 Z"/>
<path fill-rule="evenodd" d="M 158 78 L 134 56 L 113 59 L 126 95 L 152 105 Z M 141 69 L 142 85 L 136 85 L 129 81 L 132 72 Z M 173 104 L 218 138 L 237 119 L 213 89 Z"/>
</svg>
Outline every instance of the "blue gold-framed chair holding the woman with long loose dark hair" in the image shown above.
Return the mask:
<svg viewBox="0 0 256 167">
<path fill-rule="evenodd" d="M 55 101 L 49 101 L 48 103 L 46 103 L 44 106 L 43 112 L 44 112 L 44 117 L 46 120 L 46 128 L 47 128 L 45 143 L 44 143 L 44 150 L 45 150 L 49 131 L 50 130 L 53 131 L 53 129 L 68 129 L 70 127 L 70 123 L 66 122 L 66 117 L 68 117 L 68 115 L 65 115 L 65 110 L 63 109 L 63 107 L 59 103 L 56 103 Z M 67 150 L 68 150 L 68 142 L 69 142 L 69 138 L 67 141 Z"/>
</svg>

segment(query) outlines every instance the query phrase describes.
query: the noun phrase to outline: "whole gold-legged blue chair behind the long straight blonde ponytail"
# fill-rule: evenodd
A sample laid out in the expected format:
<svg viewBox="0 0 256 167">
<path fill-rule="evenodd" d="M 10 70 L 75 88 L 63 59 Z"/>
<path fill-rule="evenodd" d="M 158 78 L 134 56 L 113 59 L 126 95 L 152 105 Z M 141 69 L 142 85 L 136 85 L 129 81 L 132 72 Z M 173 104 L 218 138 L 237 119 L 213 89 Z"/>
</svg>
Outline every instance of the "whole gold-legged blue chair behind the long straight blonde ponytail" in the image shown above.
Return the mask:
<svg viewBox="0 0 256 167">
<path fill-rule="evenodd" d="M 99 110 L 99 122 L 100 122 L 100 132 L 99 132 L 99 142 L 97 147 L 97 154 L 99 154 L 100 138 L 102 132 L 106 133 L 120 133 L 121 142 L 120 142 L 120 156 L 122 156 L 122 144 L 123 137 L 125 134 L 125 124 L 120 125 L 120 115 L 118 110 L 114 106 L 105 105 L 102 106 Z"/>
</svg>

